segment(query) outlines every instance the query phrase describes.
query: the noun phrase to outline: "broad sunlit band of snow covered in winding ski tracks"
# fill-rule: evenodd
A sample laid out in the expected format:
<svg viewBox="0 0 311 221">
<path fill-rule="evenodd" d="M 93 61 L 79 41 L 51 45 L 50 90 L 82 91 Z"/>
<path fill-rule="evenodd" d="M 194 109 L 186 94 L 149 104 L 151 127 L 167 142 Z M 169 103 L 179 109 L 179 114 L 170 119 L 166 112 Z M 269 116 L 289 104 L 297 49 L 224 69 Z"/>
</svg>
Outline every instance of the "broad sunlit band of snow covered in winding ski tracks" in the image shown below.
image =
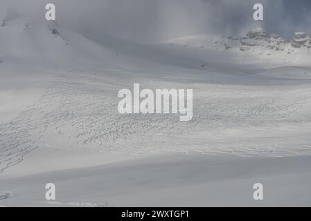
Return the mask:
<svg viewBox="0 0 311 221">
<path fill-rule="evenodd" d="M 121 115 L 117 111 L 117 93 L 121 88 L 132 89 L 137 81 L 143 81 L 145 88 L 188 86 L 168 82 L 168 79 L 136 80 L 126 77 L 127 73 L 121 70 L 107 71 L 112 75 L 64 73 L 46 88 L 46 93 L 37 103 L 10 123 L 1 124 L 0 173 L 21 162 L 25 155 L 39 146 L 96 148 L 109 153 L 168 151 L 243 157 L 311 153 L 308 135 L 301 139 L 260 139 L 253 144 L 221 142 L 227 129 L 256 130 L 260 125 L 269 125 L 269 122 L 274 126 L 286 126 L 288 122 L 309 123 L 308 116 L 299 115 L 299 107 L 311 102 L 308 90 L 283 95 L 285 90 L 281 89 L 275 93 L 249 89 L 254 90 L 256 96 L 251 97 L 245 89 L 245 92 L 238 91 L 237 97 L 213 94 L 206 97 L 206 94 L 216 93 L 217 88 L 206 89 L 204 84 L 195 84 L 193 119 L 179 122 L 179 115 Z M 109 77 L 114 72 L 124 77 Z M 220 87 L 219 91 L 223 88 Z M 269 126 L 266 130 L 269 131 Z M 311 129 L 305 130 L 310 135 Z M 230 133 L 234 135 L 232 131 Z M 211 137 L 220 142 L 211 141 Z"/>
</svg>

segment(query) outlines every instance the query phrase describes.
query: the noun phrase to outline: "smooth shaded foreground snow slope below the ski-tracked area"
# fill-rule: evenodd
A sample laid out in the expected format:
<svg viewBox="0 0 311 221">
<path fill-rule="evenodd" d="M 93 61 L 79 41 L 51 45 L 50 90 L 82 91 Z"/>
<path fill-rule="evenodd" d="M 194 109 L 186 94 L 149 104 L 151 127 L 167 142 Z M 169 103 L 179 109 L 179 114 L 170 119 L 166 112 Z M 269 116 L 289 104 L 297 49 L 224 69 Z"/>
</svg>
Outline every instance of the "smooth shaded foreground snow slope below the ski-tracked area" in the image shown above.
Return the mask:
<svg viewBox="0 0 311 221">
<path fill-rule="evenodd" d="M 310 155 L 145 157 L 0 180 L 0 205 L 309 206 L 310 166 Z M 56 185 L 53 201 L 44 198 L 48 180 Z M 263 184 L 264 200 L 253 198 L 257 182 Z"/>
</svg>

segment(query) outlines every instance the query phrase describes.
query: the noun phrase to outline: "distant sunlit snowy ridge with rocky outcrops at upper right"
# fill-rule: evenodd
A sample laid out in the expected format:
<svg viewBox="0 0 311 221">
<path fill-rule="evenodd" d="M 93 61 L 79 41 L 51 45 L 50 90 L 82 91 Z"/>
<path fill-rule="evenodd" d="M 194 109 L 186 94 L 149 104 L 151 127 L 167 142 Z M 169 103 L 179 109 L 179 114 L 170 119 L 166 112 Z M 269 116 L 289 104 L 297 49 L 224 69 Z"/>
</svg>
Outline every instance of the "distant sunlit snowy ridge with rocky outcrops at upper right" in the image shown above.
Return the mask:
<svg viewBox="0 0 311 221">
<path fill-rule="evenodd" d="M 240 57 L 242 62 L 252 61 L 278 63 L 280 65 L 309 66 L 311 59 L 311 35 L 294 33 L 291 41 L 278 34 L 269 34 L 263 28 L 254 28 L 245 37 L 221 37 L 218 35 L 197 35 L 166 41 L 173 46 L 213 49 L 224 54 L 229 52 Z M 247 57 L 245 57 L 247 55 Z"/>
</svg>

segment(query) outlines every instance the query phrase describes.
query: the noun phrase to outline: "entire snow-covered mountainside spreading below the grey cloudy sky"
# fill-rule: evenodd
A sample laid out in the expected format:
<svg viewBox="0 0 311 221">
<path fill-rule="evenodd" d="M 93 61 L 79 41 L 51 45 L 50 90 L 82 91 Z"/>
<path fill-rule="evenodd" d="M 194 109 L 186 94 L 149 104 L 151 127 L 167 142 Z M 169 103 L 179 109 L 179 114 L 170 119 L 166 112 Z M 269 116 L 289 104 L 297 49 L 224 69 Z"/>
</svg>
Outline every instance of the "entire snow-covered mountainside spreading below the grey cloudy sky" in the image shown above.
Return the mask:
<svg viewBox="0 0 311 221">
<path fill-rule="evenodd" d="M 311 206 L 310 48 L 214 38 L 99 44 L 53 22 L 3 22 L 0 205 Z M 193 89 L 193 119 L 121 115 L 118 90 L 134 83 Z"/>
</svg>

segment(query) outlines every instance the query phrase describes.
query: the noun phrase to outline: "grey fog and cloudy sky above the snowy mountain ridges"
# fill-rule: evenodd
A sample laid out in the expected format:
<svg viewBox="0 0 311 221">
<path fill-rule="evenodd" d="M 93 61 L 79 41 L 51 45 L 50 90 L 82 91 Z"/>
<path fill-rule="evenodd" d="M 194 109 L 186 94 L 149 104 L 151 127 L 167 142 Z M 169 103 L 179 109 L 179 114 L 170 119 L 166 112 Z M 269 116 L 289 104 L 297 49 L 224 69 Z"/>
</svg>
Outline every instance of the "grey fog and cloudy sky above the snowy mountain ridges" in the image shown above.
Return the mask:
<svg viewBox="0 0 311 221">
<path fill-rule="evenodd" d="M 242 35 L 257 26 L 290 39 L 293 32 L 308 32 L 311 21 L 308 0 L 1 0 L 0 15 L 12 6 L 44 18 L 46 3 L 55 3 L 57 21 L 67 28 L 144 43 L 204 33 Z M 265 21 L 254 21 L 254 3 L 263 3 Z"/>
</svg>

